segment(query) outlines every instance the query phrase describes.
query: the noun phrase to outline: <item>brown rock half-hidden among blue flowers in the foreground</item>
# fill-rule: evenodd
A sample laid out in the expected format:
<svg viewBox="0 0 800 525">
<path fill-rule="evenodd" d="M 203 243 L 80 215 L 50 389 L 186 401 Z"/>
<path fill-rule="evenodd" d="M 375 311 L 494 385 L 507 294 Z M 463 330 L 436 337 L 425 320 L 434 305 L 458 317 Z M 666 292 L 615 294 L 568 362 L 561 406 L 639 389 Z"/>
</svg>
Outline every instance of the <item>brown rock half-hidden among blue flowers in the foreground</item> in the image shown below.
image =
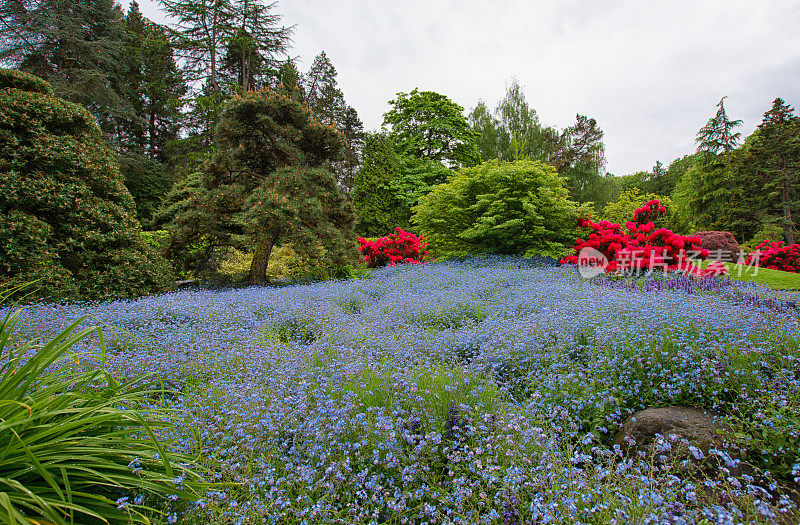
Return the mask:
<svg viewBox="0 0 800 525">
<path fill-rule="evenodd" d="M 623 423 L 614 443 L 629 455 L 641 451 L 648 458 L 661 458 L 686 468 L 708 456 L 711 448 L 721 447 L 726 433 L 722 416 L 707 410 L 646 408 Z"/>
</svg>

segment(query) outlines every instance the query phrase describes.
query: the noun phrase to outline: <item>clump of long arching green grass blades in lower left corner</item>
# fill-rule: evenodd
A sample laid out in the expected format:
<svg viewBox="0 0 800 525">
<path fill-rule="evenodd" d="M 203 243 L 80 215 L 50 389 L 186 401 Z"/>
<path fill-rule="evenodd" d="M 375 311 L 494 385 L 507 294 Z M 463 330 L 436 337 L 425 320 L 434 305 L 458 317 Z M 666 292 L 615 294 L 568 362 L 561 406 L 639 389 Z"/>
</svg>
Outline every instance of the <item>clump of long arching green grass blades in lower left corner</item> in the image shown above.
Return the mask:
<svg viewBox="0 0 800 525">
<path fill-rule="evenodd" d="M 0 324 L 0 521 L 149 523 L 168 500 L 195 500 L 189 458 L 157 437 L 164 414 L 137 408 L 157 393 L 145 378 L 72 368 L 73 346 L 92 334 L 105 360 L 101 329 L 80 328 L 82 317 L 41 346 L 20 345 L 21 315 Z"/>
</svg>

